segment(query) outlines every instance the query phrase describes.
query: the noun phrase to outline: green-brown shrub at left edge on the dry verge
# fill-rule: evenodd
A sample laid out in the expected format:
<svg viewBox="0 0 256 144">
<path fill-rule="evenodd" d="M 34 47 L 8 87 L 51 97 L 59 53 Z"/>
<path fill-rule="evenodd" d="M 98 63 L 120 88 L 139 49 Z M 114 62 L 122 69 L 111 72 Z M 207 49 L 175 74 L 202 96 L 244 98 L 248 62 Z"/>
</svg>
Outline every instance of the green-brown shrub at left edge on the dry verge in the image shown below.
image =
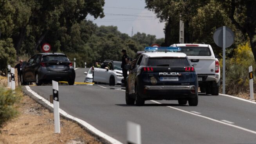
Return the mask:
<svg viewBox="0 0 256 144">
<path fill-rule="evenodd" d="M 14 104 L 18 103 L 21 97 L 22 90 L 20 88 L 17 88 L 14 92 L 0 86 L 0 127 L 18 114 Z"/>
</svg>

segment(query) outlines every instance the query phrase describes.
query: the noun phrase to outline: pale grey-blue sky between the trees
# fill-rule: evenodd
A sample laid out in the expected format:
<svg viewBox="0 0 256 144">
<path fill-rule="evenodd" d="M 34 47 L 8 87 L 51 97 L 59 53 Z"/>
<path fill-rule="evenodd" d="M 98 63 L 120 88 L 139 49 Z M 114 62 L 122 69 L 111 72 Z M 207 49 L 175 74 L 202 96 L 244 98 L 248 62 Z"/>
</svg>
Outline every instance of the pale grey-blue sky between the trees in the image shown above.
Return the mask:
<svg viewBox="0 0 256 144">
<path fill-rule="evenodd" d="M 132 35 L 133 27 L 133 34 L 144 32 L 164 38 L 164 23 L 160 23 L 155 14 L 145 9 L 145 6 L 145 0 L 105 0 L 105 17 L 95 20 L 93 16 L 87 16 L 87 19 L 98 26 L 117 26 L 120 32 L 129 36 Z"/>
</svg>

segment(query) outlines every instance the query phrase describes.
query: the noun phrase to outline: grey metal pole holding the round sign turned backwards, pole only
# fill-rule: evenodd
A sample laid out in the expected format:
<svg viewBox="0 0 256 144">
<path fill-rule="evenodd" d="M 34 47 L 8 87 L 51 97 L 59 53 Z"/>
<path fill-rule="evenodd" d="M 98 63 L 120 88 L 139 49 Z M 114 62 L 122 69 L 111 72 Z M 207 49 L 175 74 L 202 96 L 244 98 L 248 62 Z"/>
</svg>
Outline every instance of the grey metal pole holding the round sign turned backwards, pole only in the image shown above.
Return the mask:
<svg viewBox="0 0 256 144">
<path fill-rule="evenodd" d="M 223 26 L 223 70 L 222 70 L 222 94 L 225 94 L 225 61 L 226 61 L 226 27 Z"/>
</svg>

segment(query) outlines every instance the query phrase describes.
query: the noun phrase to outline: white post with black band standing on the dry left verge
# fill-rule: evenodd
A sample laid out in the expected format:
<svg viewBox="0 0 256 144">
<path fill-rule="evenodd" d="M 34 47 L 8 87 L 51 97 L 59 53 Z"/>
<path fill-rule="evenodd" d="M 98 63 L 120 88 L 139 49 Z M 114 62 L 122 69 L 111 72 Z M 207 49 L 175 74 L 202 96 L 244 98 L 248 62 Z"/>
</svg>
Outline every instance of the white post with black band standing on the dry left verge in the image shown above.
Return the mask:
<svg viewBox="0 0 256 144">
<path fill-rule="evenodd" d="M 58 82 L 56 82 L 56 81 L 52 81 L 52 93 L 53 93 L 54 133 L 60 133 L 59 85 L 58 85 Z"/>
</svg>

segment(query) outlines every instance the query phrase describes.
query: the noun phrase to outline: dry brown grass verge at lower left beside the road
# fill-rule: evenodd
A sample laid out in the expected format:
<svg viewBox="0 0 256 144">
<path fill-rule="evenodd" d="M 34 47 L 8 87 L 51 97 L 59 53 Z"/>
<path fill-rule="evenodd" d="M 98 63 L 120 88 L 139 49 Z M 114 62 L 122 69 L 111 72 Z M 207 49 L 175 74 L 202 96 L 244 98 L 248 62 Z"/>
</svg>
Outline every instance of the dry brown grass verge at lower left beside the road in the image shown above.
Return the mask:
<svg viewBox="0 0 256 144">
<path fill-rule="evenodd" d="M 7 83 L 7 79 L 0 78 L 0 87 L 6 86 L 5 83 Z M 62 117 L 60 120 L 61 133 L 54 133 L 53 113 L 27 95 L 21 94 L 20 101 L 15 103 L 14 107 L 18 111 L 18 115 L 5 122 L 0 128 L 0 144 L 101 143 L 77 123 Z"/>
</svg>

